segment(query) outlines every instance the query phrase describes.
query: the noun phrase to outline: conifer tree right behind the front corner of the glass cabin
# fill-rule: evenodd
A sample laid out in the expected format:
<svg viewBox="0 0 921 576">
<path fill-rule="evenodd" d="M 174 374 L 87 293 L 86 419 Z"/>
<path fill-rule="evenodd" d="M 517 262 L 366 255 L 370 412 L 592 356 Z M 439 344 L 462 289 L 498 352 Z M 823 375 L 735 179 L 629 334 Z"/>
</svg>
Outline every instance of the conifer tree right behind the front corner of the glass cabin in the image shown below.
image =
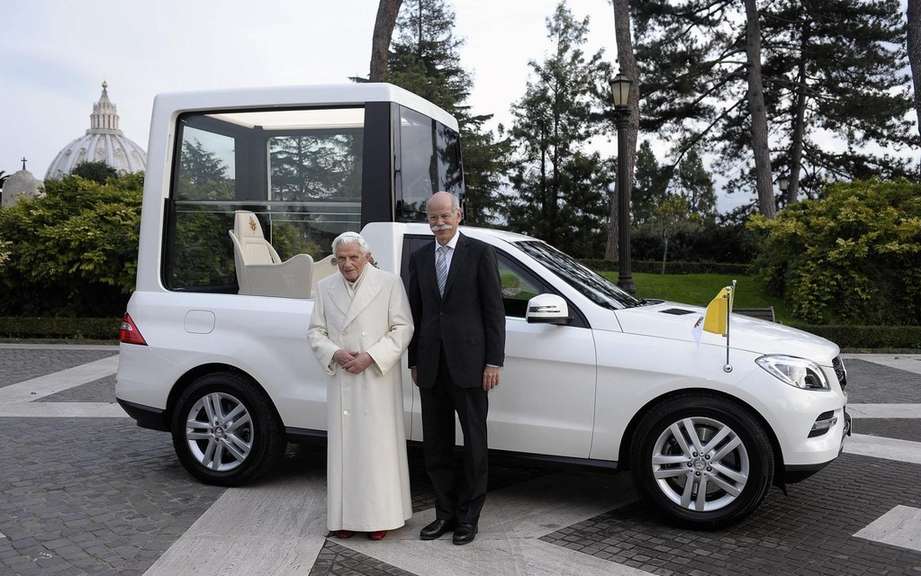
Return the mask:
<svg viewBox="0 0 921 576">
<path fill-rule="evenodd" d="M 464 219 L 468 224 L 489 224 L 510 145 L 501 126 L 497 132 L 486 127 L 491 114 L 473 114 L 467 104 L 473 80 L 460 63 L 463 40 L 454 36 L 454 11 L 445 0 L 409 0 L 397 18 L 396 32 L 388 81 L 457 118 L 464 158 Z"/>
</svg>

